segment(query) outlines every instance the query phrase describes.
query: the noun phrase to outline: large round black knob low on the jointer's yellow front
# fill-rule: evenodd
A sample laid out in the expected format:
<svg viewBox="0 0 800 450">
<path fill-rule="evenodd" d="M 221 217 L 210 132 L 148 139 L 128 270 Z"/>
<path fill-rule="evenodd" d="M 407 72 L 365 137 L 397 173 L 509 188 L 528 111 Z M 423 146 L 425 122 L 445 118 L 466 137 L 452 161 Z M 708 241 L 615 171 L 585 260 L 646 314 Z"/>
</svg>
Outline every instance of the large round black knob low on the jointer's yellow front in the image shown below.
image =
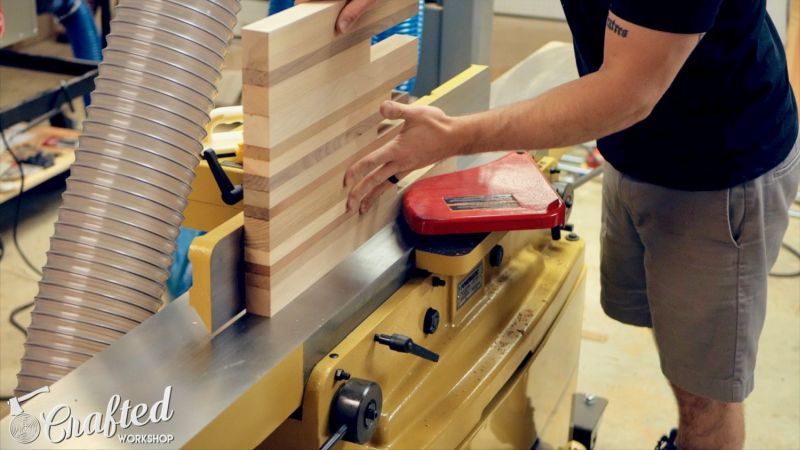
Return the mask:
<svg viewBox="0 0 800 450">
<path fill-rule="evenodd" d="M 378 428 L 383 393 L 378 383 L 352 379 L 336 391 L 331 405 L 331 436 L 320 450 L 330 450 L 340 440 L 364 444 Z"/>
</svg>

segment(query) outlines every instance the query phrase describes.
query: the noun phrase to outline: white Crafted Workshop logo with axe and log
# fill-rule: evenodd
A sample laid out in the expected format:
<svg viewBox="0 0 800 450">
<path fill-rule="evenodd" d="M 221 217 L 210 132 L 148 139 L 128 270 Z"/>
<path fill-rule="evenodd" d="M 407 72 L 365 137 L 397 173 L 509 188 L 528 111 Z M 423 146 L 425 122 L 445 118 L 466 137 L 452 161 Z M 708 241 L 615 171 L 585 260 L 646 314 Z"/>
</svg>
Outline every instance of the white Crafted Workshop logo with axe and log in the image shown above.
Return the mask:
<svg viewBox="0 0 800 450">
<path fill-rule="evenodd" d="M 117 435 L 118 430 L 167 422 L 174 414 L 169 406 L 172 386 L 164 388 L 164 396 L 152 405 L 147 403 L 131 405 L 130 400 L 121 401 L 121 397 L 114 394 L 108 399 L 105 411 L 92 412 L 83 420 L 74 417 L 72 409 L 63 403 L 54 406 L 46 413 L 41 413 L 38 419 L 22 409 L 23 402 L 46 392 L 50 392 L 47 386 L 8 401 L 13 417 L 8 426 L 12 439 L 21 444 L 30 444 L 43 434 L 48 441 L 58 444 L 67 439 L 93 434 L 112 438 Z M 117 438 L 126 444 L 169 444 L 174 440 L 171 434 L 120 433 Z"/>
</svg>

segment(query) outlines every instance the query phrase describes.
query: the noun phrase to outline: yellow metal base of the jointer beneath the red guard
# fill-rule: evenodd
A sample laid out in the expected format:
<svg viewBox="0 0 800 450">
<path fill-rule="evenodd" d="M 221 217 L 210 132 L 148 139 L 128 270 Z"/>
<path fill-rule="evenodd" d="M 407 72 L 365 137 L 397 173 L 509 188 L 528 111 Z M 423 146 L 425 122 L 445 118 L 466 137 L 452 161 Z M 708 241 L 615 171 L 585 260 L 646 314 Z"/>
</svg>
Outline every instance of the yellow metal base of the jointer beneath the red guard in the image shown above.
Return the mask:
<svg viewBox="0 0 800 450">
<path fill-rule="evenodd" d="M 420 267 L 432 274 L 410 280 L 316 365 L 301 418 L 286 420 L 263 447 L 323 444 L 342 383 L 337 369 L 382 388 L 369 447 L 530 448 L 537 439 L 541 448 L 565 445 L 580 346 L 583 243 L 554 242 L 549 231 L 494 233 L 484 242 L 468 255 Z M 495 246 L 506 259 L 491 267 Z M 420 252 L 417 258 L 425 259 Z M 454 267 L 469 269 L 453 273 Z M 459 298 L 476 274 L 481 287 Z M 426 335 L 428 308 L 440 311 L 441 324 Z M 441 359 L 391 351 L 374 342 L 377 333 L 409 336 Z"/>
</svg>

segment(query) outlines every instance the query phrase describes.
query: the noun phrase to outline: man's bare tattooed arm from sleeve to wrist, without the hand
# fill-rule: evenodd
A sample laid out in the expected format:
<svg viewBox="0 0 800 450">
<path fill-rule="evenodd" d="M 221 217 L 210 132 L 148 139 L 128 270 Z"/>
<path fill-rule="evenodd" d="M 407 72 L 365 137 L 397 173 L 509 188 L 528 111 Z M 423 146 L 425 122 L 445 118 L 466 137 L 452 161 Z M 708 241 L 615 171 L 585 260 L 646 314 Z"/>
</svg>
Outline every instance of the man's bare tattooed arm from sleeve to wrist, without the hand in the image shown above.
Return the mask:
<svg viewBox="0 0 800 450">
<path fill-rule="evenodd" d="M 624 130 L 650 115 L 699 42 L 609 14 L 603 65 L 540 97 L 466 117 L 470 152 L 562 147 Z"/>
</svg>

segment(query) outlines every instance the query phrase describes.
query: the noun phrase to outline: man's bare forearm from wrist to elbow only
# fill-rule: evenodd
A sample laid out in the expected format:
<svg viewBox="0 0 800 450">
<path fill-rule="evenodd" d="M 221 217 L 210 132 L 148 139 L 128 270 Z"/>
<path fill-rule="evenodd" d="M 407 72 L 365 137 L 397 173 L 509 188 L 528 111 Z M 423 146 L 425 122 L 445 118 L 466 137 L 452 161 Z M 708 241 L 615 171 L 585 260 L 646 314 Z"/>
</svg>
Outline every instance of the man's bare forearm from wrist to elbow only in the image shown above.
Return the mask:
<svg viewBox="0 0 800 450">
<path fill-rule="evenodd" d="M 601 70 L 531 100 L 454 118 L 458 153 L 563 147 L 628 128 L 654 102 L 620 78 Z"/>
</svg>

